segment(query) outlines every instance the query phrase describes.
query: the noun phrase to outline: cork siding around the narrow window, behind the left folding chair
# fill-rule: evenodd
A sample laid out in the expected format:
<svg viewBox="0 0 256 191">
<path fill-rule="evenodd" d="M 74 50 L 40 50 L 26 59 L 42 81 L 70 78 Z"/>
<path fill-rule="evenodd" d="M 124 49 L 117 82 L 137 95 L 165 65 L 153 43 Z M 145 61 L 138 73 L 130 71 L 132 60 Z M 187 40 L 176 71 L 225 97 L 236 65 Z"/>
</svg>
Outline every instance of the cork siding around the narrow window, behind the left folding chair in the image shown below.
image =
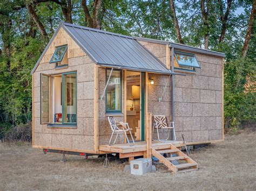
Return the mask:
<svg viewBox="0 0 256 191">
<path fill-rule="evenodd" d="M 123 70 L 123 79 L 122 79 L 122 112 L 124 113 L 124 70 Z M 106 80 L 105 80 L 105 68 L 99 67 L 99 97 L 103 94 Z M 104 95 L 103 100 L 99 100 L 99 145 L 109 144 L 109 140 L 111 137 L 112 130 L 110 128 L 109 121 L 107 120 L 107 116 L 105 114 L 105 98 Z M 116 116 L 114 117 L 117 122 L 124 121 L 124 116 Z M 116 138 L 116 137 L 114 137 Z M 123 132 L 119 133 L 119 137 L 117 138 L 116 143 L 124 143 L 124 135 Z"/>
</svg>

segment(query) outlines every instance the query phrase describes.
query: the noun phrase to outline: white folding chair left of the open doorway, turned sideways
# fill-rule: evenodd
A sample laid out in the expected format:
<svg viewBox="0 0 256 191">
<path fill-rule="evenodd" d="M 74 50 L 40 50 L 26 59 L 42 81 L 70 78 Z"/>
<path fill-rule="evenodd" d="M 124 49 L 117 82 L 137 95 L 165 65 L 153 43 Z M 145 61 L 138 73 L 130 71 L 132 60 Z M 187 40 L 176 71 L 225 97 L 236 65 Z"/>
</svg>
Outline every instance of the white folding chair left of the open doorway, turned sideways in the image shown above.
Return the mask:
<svg viewBox="0 0 256 191">
<path fill-rule="evenodd" d="M 128 144 L 129 144 L 130 146 L 133 146 L 135 143 L 134 143 L 134 139 L 133 139 L 133 137 L 132 137 L 132 132 L 131 132 L 132 129 L 130 129 L 129 124 L 128 124 L 128 123 L 124 123 L 124 122 L 116 122 L 116 120 L 115 120 L 114 117 L 112 117 L 112 116 L 109 116 L 109 117 L 107 117 L 107 118 L 109 119 L 109 124 L 110 124 L 111 130 L 112 130 L 112 135 L 111 135 L 110 140 L 109 140 L 109 145 L 114 145 L 114 144 L 116 143 L 116 140 L 117 140 L 117 137 L 118 137 L 118 135 L 119 135 L 119 132 L 122 132 L 122 131 L 123 131 L 123 132 L 124 132 L 124 135 L 125 135 L 125 137 L 126 137 L 126 139 L 127 139 Z M 122 129 L 119 129 L 118 126 L 122 126 Z M 129 132 L 130 132 L 130 135 L 131 135 L 131 137 L 132 137 L 132 143 L 133 143 L 133 145 L 130 144 L 130 141 L 129 141 L 128 137 L 127 137 L 126 131 L 129 131 Z M 113 137 L 113 135 L 114 135 L 115 132 L 117 132 L 116 139 L 114 139 L 113 144 L 110 144 L 110 143 L 111 143 L 111 140 L 112 140 L 112 137 Z"/>
</svg>

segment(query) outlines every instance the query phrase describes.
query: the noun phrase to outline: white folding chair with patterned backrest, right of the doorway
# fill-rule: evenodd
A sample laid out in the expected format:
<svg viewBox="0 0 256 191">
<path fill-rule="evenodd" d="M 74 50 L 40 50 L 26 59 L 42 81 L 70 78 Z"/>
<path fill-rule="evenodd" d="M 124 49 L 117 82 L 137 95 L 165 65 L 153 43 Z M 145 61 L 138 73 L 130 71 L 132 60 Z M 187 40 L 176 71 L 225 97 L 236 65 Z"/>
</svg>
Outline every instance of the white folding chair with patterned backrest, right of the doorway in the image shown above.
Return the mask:
<svg viewBox="0 0 256 191">
<path fill-rule="evenodd" d="M 168 140 L 167 142 L 175 142 L 176 135 L 175 135 L 175 129 L 174 129 L 174 122 L 170 122 L 170 124 L 168 124 L 166 116 L 164 116 L 164 115 L 153 116 L 152 139 L 156 140 L 153 138 L 154 129 L 157 129 L 157 138 L 158 138 L 159 142 L 166 142 L 170 137 L 171 129 L 173 129 L 174 140 Z M 159 129 L 169 129 L 168 137 L 166 139 L 159 138 Z"/>
</svg>

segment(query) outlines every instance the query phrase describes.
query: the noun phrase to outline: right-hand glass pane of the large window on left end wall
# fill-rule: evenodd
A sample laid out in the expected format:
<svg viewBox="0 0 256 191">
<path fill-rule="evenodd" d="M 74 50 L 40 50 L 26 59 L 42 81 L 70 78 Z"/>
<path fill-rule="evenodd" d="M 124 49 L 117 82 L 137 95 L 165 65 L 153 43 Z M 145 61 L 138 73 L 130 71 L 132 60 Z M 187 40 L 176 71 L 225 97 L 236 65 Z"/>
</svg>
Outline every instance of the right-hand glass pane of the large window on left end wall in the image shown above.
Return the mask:
<svg viewBox="0 0 256 191">
<path fill-rule="evenodd" d="M 77 74 L 63 74 L 63 123 L 77 123 Z"/>
</svg>

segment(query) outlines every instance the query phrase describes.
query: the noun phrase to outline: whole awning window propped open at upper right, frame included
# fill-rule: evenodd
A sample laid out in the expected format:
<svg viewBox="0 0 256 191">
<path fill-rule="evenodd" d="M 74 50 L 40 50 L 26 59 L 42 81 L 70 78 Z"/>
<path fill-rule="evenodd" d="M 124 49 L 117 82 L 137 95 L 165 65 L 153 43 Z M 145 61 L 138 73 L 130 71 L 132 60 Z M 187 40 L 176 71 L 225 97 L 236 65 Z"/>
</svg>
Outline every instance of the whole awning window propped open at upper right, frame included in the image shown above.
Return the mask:
<svg viewBox="0 0 256 191">
<path fill-rule="evenodd" d="M 174 51 L 174 69 L 195 72 L 195 68 L 201 68 L 196 55 L 187 52 Z"/>
</svg>

